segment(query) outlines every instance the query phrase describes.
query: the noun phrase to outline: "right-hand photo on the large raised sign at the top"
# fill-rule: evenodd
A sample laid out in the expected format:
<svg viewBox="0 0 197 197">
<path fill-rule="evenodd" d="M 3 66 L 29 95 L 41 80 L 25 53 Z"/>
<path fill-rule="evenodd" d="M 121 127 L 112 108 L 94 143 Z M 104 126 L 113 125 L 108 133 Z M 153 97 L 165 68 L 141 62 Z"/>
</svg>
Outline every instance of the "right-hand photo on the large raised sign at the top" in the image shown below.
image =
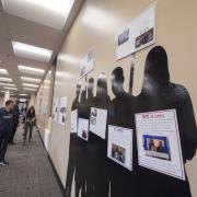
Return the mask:
<svg viewBox="0 0 197 197">
<path fill-rule="evenodd" d="M 146 33 L 136 37 L 136 48 L 139 48 L 140 46 L 152 42 L 154 37 L 153 35 L 154 35 L 154 28 L 150 28 Z"/>
</svg>

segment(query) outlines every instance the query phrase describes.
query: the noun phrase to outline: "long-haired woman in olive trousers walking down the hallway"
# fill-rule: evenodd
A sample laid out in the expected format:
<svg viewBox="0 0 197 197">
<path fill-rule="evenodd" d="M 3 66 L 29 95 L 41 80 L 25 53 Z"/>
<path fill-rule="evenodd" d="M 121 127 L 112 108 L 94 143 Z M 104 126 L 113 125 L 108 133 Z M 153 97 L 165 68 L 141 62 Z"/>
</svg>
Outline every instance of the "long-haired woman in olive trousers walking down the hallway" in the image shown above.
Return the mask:
<svg viewBox="0 0 197 197">
<path fill-rule="evenodd" d="M 28 142 L 31 142 L 32 131 L 33 131 L 33 128 L 34 128 L 34 125 L 35 125 L 35 120 L 36 120 L 36 118 L 35 118 L 35 109 L 34 109 L 34 106 L 31 106 L 27 109 L 27 113 L 26 113 L 26 119 L 25 119 L 25 126 L 24 126 L 24 140 L 23 140 L 23 144 L 25 144 L 26 135 L 28 132 L 28 129 L 30 129 Z"/>
</svg>

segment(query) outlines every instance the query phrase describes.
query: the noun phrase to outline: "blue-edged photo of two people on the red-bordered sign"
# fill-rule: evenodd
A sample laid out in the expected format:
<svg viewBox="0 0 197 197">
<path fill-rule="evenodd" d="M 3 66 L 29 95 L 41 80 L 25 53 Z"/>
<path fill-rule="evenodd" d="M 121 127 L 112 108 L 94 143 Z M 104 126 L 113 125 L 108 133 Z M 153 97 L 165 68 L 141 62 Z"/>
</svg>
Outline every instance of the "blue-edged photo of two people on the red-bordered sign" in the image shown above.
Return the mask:
<svg viewBox="0 0 197 197">
<path fill-rule="evenodd" d="M 148 157 L 171 160 L 166 137 L 143 135 L 143 148 Z"/>
</svg>

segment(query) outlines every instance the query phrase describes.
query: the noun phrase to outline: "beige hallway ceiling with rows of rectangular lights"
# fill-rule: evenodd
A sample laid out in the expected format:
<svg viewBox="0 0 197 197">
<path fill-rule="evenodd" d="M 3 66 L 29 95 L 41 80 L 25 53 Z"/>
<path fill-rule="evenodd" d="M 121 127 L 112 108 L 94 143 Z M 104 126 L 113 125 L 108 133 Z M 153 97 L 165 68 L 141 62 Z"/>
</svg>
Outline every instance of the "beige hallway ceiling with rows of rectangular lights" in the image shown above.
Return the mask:
<svg viewBox="0 0 197 197">
<path fill-rule="evenodd" d="M 55 2 L 55 4 L 53 4 Z M 58 2 L 58 4 L 57 4 Z M 56 58 L 67 33 L 72 25 L 84 0 L 1 0 L 0 1 L 0 69 L 7 69 L 20 93 L 32 94 L 25 91 L 21 77 L 44 79 L 46 71 Z M 49 8 L 51 3 L 53 7 Z M 12 42 L 20 42 L 53 51 L 49 61 L 36 60 L 36 57 L 16 55 Z M 31 66 L 43 69 L 45 72 L 21 73 L 18 66 Z M 0 85 L 0 92 L 4 91 Z M 37 89 L 36 89 L 37 90 Z"/>
</svg>

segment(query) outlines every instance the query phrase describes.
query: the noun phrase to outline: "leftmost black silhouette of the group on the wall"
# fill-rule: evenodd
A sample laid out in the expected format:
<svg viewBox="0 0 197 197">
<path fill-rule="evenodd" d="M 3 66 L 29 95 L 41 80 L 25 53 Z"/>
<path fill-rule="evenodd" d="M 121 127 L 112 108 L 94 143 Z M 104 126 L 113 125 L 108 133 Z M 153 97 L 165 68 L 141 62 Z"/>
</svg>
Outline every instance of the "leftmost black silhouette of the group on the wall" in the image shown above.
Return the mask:
<svg viewBox="0 0 197 197">
<path fill-rule="evenodd" d="M 81 84 L 77 84 L 76 99 L 73 100 L 71 111 L 79 109 L 79 96 L 81 92 Z M 70 197 L 71 195 L 71 185 L 73 179 L 73 174 L 76 170 L 76 162 L 78 158 L 78 135 L 77 132 L 70 132 L 70 147 L 69 147 L 69 161 L 68 161 L 68 170 L 67 170 L 67 181 L 66 181 L 66 195 Z"/>
</svg>

